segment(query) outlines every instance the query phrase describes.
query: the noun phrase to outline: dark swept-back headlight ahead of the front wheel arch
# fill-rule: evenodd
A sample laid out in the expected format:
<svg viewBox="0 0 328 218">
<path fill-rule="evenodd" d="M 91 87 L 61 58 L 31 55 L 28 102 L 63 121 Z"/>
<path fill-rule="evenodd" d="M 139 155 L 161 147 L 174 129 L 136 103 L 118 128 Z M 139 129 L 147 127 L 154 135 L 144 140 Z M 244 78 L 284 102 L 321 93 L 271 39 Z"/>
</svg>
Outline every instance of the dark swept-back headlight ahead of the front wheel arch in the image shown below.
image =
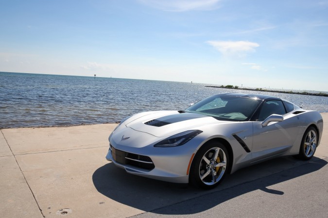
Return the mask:
<svg viewBox="0 0 328 218">
<path fill-rule="evenodd" d="M 189 140 L 201 134 L 201 130 L 188 130 L 174 136 L 171 136 L 165 140 L 162 140 L 154 145 L 154 147 L 176 147 L 187 143 Z"/>
</svg>

